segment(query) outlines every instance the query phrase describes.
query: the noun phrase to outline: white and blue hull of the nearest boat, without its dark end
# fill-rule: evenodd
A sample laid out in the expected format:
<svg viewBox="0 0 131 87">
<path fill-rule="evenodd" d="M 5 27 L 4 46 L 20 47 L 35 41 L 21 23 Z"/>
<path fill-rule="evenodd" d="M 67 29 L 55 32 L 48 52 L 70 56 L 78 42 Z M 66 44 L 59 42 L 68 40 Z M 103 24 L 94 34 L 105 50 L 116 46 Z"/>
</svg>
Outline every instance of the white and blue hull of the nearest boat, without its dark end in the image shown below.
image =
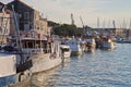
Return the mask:
<svg viewBox="0 0 131 87">
<path fill-rule="evenodd" d="M 32 76 L 31 70 L 16 72 L 19 55 L 0 53 L 0 87 L 14 85 Z"/>
</svg>

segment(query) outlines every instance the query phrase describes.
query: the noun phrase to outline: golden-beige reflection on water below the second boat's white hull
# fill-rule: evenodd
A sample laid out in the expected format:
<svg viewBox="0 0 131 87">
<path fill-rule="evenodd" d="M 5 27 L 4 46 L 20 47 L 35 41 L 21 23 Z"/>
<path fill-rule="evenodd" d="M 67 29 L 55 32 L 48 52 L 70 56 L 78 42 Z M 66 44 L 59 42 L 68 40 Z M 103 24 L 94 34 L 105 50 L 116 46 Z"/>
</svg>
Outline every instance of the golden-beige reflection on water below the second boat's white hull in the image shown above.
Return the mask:
<svg viewBox="0 0 131 87">
<path fill-rule="evenodd" d="M 56 85 L 59 84 L 59 80 L 61 80 L 59 78 L 60 72 L 58 71 L 64 70 L 66 67 L 68 67 L 68 65 L 69 65 L 68 62 L 63 62 L 61 65 L 59 65 L 58 67 L 55 67 L 53 70 L 34 74 L 31 79 L 29 86 L 31 87 L 56 87 Z"/>
</svg>

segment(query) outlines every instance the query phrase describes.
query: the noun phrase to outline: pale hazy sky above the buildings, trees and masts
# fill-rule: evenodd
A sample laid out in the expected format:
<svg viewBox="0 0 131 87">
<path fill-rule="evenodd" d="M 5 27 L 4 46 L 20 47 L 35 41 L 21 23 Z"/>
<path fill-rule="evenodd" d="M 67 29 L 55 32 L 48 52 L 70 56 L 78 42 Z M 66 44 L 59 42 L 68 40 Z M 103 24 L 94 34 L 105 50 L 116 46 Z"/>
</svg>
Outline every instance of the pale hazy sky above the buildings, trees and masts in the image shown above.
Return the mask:
<svg viewBox="0 0 131 87">
<path fill-rule="evenodd" d="M 0 0 L 3 3 L 12 0 Z M 129 27 L 131 17 L 131 0 L 21 0 L 43 13 L 44 17 L 60 24 L 74 24 L 82 27 Z M 99 18 L 99 20 L 97 20 Z"/>
</svg>

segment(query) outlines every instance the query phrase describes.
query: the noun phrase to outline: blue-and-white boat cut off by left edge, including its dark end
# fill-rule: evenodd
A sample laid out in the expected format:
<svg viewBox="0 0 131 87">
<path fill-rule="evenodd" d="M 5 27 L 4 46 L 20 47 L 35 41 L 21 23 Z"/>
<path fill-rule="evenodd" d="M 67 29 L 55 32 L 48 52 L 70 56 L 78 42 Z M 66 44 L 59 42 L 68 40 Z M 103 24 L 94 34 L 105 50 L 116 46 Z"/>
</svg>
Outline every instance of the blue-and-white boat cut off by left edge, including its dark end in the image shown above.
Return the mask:
<svg viewBox="0 0 131 87">
<path fill-rule="evenodd" d="M 32 60 L 21 58 L 22 53 L 0 52 L 0 87 L 21 83 L 32 76 Z"/>
</svg>

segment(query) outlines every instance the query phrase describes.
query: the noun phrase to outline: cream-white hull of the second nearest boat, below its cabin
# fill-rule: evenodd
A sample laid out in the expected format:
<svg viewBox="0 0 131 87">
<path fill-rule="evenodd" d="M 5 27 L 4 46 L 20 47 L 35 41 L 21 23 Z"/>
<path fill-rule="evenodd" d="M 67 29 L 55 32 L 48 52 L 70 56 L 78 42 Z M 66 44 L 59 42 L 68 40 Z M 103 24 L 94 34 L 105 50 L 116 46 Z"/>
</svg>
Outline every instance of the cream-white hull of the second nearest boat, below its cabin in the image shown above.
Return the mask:
<svg viewBox="0 0 131 87">
<path fill-rule="evenodd" d="M 61 64 L 60 57 L 53 57 L 50 53 L 38 53 L 32 57 L 33 67 L 31 69 L 33 74 L 51 70 Z"/>
</svg>

